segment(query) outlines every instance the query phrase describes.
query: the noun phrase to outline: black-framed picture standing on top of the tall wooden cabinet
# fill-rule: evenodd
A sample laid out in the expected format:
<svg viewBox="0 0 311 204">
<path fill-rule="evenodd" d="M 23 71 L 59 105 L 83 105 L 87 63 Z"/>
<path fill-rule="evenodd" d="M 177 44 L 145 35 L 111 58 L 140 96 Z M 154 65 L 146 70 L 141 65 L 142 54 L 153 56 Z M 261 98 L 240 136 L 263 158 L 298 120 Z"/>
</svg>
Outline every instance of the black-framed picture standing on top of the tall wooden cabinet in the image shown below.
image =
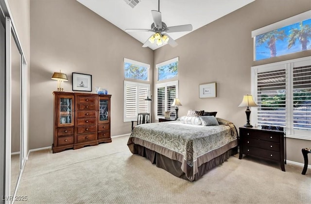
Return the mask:
<svg viewBox="0 0 311 204">
<path fill-rule="evenodd" d="M 72 72 L 72 91 L 92 91 L 92 75 Z"/>
</svg>

